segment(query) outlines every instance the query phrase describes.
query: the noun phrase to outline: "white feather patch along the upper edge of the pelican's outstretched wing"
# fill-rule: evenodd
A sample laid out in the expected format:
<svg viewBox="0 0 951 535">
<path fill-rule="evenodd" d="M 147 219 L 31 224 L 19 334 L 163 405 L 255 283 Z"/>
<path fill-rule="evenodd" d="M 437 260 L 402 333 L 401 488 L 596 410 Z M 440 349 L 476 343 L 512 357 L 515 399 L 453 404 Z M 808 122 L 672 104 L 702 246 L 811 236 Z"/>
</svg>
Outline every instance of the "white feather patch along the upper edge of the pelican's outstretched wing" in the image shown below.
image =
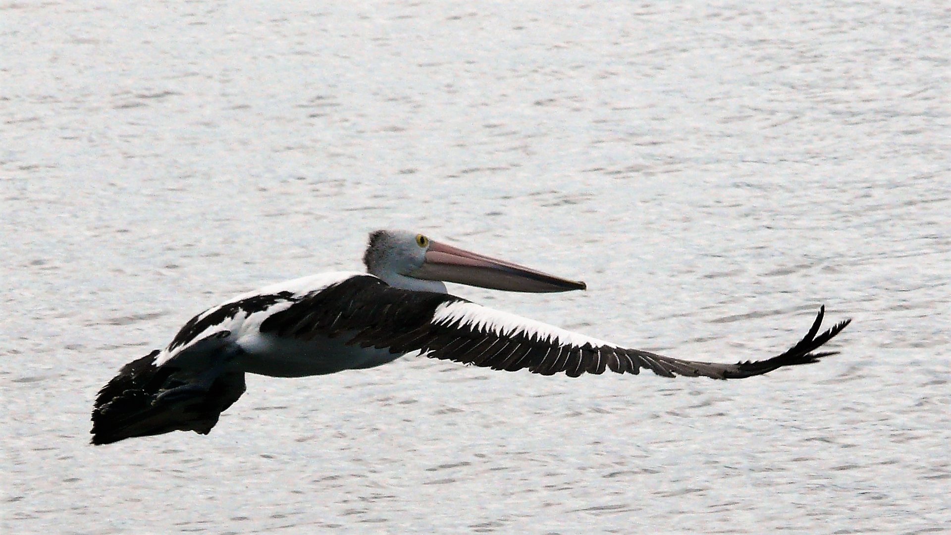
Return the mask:
<svg viewBox="0 0 951 535">
<path fill-rule="evenodd" d="M 549 341 L 559 346 L 583 347 L 587 344 L 591 347 L 617 347 L 604 340 L 523 318 L 509 312 L 482 307 L 475 303 L 444 303 L 436 308 L 436 312 L 433 314 L 434 324 L 450 326 L 456 324 L 456 322 L 462 326 L 482 332 L 492 332 L 496 336 L 502 337 L 521 332 L 530 339 Z"/>
</svg>

